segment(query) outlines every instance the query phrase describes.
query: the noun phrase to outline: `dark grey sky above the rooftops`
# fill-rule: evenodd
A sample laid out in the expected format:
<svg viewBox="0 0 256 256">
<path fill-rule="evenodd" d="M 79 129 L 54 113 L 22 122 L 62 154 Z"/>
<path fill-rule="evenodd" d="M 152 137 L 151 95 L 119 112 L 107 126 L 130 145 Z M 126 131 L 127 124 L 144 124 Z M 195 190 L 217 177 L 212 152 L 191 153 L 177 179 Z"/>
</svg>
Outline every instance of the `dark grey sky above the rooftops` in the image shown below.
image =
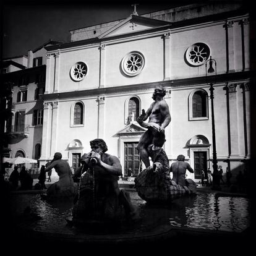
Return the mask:
<svg viewBox="0 0 256 256">
<path fill-rule="evenodd" d="M 104 4 L 92 1 L 93 5 L 83 2 L 89 1 L 4 1 L 1 15 L 2 58 L 27 55 L 28 50 L 36 49 L 50 39 L 63 43 L 70 41 L 70 30 L 126 19 L 134 11 L 131 4 L 138 1 L 104 1 Z M 143 15 L 191 1 L 168 2 L 139 2 L 137 13 Z"/>
</svg>

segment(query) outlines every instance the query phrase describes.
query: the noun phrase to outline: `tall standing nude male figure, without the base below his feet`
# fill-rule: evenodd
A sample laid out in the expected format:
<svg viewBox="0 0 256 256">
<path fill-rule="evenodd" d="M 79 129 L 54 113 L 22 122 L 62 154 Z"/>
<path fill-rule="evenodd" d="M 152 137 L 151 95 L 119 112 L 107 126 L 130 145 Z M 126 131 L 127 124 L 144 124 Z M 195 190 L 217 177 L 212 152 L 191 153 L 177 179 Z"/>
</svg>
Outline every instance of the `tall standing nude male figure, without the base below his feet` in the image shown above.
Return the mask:
<svg viewBox="0 0 256 256">
<path fill-rule="evenodd" d="M 138 150 L 140 152 L 140 158 L 145 164 L 146 168 L 150 166 L 148 146 L 152 146 L 152 150 L 160 150 L 165 142 L 164 129 L 171 122 L 171 114 L 169 113 L 169 107 L 166 101 L 163 99 L 166 94 L 166 90 L 162 86 L 155 88 L 153 93 L 153 103 L 151 103 L 148 110 L 143 112 L 137 118 L 137 122 L 140 126 L 147 128 L 148 130 L 140 137 Z M 148 118 L 148 123 L 143 122 Z"/>
</svg>

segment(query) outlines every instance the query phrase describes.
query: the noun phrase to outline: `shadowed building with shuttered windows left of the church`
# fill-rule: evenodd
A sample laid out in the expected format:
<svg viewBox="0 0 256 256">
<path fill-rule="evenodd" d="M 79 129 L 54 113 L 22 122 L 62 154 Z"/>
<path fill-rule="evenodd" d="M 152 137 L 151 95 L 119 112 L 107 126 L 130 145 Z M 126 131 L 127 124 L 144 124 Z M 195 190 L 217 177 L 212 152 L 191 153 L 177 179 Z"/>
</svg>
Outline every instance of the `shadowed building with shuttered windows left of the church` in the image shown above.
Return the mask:
<svg viewBox="0 0 256 256">
<path fill-rule="evenodd" d="M 45 92 L 46 49 L 49 40 L 39 48 L 2 61 L 2 85 L 9 88 L 4 120 L 4 154 L 8 158 L 22 156 L 38 160 L 41 156 L 43 100 Z M 35 164 L 32 164 L 36 168 Z"/>
</svg>

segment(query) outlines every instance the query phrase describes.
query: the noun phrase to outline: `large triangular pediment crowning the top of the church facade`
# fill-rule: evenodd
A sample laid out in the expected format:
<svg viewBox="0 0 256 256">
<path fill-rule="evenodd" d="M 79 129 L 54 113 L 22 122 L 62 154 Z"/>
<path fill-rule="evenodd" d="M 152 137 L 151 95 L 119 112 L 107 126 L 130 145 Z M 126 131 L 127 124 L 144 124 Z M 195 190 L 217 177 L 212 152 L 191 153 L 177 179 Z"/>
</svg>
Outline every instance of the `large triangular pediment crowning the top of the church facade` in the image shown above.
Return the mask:
<svg viewBox="0 0 256 256">
<path fill-rule="evenodd" d="M 165 22 L 163 20 L 150 19 L 132 14 L 127 19 L 123 20 L 113 28 L 110 28 L 108 31 L 101 34 L 99 38 L 134 33 L 170 24 L 170 22 Z"/>
</svg>

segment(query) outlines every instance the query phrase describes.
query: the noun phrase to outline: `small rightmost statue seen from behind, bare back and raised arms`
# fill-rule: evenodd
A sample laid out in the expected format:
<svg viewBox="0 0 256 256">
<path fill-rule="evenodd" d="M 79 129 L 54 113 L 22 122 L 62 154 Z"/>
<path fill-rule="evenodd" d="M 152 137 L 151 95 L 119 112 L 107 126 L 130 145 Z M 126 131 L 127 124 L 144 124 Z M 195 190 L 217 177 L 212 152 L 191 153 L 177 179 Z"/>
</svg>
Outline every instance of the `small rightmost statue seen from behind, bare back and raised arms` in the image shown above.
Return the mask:
<svg viewBox="0 0 256 256">
<path fill-rule="evenodd" d="M 194 170 L 189 163 L 184 162 L 184 155 L 178 155 L 177 160 L 178 161 L 172 163 L 170 167 L 170 172 L 173 172 L 172 181 L 175 181 L 177 185 L 186 186 L 186 170 L 189 170 L 190 173 L 194 173 Z"/>
</svg>

